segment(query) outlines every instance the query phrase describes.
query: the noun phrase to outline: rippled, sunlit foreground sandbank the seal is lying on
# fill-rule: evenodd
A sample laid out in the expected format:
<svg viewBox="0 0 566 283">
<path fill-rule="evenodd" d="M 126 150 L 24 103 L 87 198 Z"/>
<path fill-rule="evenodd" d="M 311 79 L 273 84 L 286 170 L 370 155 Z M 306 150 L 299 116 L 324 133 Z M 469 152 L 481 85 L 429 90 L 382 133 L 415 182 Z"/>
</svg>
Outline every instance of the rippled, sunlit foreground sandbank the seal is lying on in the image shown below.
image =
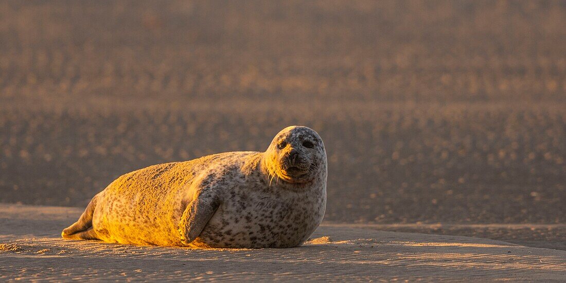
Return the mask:
<svg viewBox="0 0 566 283">
<path fill-rule="evenodd" d="M 0 204 L 0 281 L 519 280 L 566 278 L 566 251 L 323 223 L 302 247 L 209 249 L 68 241 L 81 208 Z"/>
</svg>

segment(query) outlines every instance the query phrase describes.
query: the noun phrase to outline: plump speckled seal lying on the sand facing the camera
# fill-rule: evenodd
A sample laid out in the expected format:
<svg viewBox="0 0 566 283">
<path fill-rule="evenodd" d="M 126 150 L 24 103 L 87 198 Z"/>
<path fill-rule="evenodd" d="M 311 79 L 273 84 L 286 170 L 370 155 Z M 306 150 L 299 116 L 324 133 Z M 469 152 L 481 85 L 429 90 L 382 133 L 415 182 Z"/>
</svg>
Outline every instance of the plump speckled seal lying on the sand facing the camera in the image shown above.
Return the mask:
<svg viewBox="0 0 566 283">
<path fill-rule="evenodd" d="M 226 152 L 122 175 L 92 198 L 66 239 L 218 248 L 300 246 L 326 208 L 327 157 L 290 126 L 265 152 Z"/>
</svg>

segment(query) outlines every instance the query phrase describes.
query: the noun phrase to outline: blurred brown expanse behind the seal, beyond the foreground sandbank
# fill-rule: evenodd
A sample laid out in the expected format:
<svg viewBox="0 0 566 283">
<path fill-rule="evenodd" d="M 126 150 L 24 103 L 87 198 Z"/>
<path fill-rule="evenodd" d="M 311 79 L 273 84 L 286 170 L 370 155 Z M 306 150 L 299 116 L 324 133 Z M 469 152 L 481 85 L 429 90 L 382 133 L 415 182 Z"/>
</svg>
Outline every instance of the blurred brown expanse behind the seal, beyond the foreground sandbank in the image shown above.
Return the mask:
<svg viewBox="0 0 566 283">
<path fill-rule="evenodd" d="M 564 27 L 565 1 L 2 1 L 0 202 L 305 125 L 327 221 L 564 224 Z"/>
</svg>

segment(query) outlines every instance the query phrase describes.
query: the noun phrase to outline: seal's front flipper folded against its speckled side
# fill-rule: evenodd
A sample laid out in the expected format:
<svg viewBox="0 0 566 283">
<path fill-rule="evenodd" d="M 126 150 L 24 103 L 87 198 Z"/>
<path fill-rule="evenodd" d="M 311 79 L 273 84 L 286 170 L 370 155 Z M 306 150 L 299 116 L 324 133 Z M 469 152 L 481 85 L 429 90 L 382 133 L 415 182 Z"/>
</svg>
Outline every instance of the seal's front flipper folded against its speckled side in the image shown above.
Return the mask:
<svg viewBox="0 0 566 283">
<path fill-rule="evenodd" d="M 199 237 L 219 206 L 220 200 L 211 188 L 205 188 L 197 193 L 196 198 L 187 205 L 179 223 L 183 245 L 188 245 Z"/>
</svg>

